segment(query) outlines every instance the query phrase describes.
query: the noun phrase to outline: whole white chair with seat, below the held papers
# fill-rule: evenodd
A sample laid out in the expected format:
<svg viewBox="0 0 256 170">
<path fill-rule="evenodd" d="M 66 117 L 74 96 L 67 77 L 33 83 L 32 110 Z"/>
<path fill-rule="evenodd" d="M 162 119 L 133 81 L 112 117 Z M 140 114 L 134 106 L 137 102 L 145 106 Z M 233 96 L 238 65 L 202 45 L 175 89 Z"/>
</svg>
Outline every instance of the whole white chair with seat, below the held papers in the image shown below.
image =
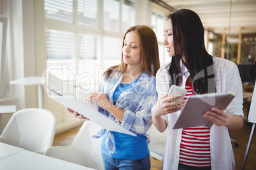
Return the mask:
<svg viewBox="0 0 256 170">
<path fill-rule="evenodd" d="M 85 121 L 70 146 L 50 147 L 45 155 L 93 169 L 104 169 L 101 158 L 101 138 L 92 138 L 100 129 L 101 127 L 94 122 Z"/>
</svg>

